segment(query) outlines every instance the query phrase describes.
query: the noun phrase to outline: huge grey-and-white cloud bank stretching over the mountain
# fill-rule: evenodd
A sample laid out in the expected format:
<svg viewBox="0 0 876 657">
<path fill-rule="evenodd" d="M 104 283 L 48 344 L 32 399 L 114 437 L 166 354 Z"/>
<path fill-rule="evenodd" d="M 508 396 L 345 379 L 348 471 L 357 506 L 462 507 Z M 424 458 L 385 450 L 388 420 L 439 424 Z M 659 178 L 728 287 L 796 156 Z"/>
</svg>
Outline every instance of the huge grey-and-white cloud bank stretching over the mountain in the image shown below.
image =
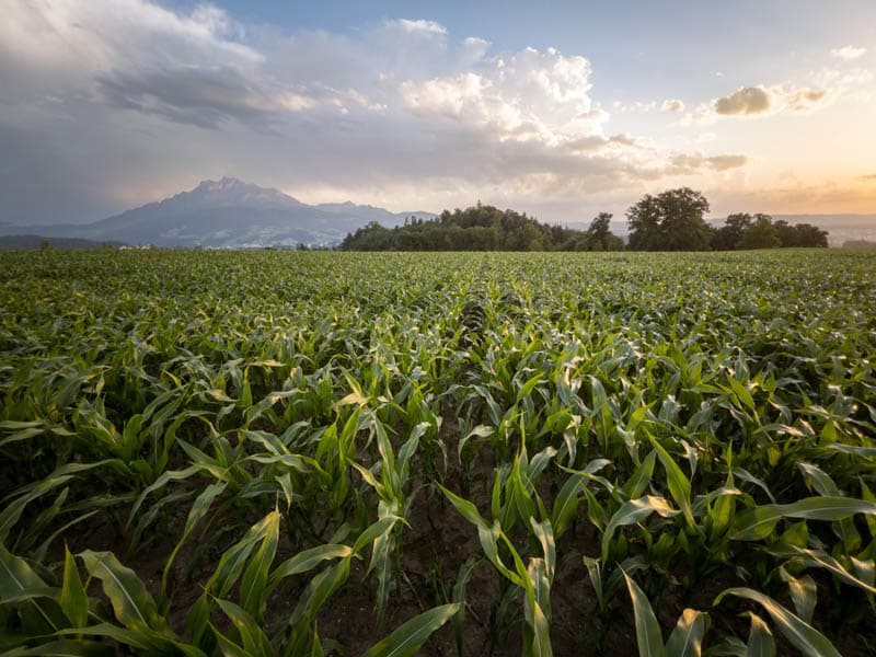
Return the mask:
<svg viewBox="0 0 876 657">
<path fill-rule="evenodd" d="M 224 174 L 400 210 L 574 212 L 746 162 L 612 132 L 583 55 L 424 19 L 288 34 L 211 4 L 11 0 L 0 88 L 0 220 L 96 219 Z"/>
</svg>

